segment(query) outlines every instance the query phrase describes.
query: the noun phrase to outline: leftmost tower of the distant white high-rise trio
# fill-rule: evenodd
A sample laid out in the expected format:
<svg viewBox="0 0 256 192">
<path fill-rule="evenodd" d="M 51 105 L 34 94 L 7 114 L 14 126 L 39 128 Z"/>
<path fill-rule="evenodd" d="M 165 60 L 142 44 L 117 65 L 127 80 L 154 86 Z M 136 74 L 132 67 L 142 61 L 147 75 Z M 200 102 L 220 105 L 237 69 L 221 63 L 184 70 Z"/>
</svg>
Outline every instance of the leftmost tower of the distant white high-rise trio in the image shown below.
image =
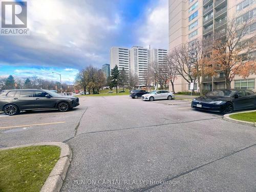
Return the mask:
<svg viewBox="0 0 256 192">
<path fill-rule="evenodd" d="M 112 47 L 110 50 L 110 67 L 113 69 L 116 65 L 119 69 L 130 71 L 129 55 L 130 50 L 127 48 Z"/>
</svg>

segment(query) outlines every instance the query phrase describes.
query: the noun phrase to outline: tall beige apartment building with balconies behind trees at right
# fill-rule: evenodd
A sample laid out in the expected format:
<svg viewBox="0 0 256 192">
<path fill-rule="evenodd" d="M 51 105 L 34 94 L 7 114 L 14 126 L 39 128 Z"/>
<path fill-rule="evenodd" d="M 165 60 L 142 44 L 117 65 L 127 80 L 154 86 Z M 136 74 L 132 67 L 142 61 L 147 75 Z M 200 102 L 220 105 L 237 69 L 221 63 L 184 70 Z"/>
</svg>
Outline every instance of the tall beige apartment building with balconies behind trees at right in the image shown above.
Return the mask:
<svg viewBox="0 0 256 192">
<path fill-rule="evenodd" d="M 169 50 L 196 39 L 212 39 L 215 33 L 225 34 L 227 19 L 237 17 L 254 19 L 256 17 L 255 0 L 169 0 Z M 256 21 L 249 27 L 248 33 L 255 33 Z M 253 52 L 255 58 L 255 52 Z M 236 76 L 231 88 L 255 88 L 256 75 L 247 79 Z M 217 77 L 204 78 L 204 90 L 225 89 L 225 77 L 219 73 Z M 195 84 L 194 89 L 198 89 Z M 175 91 L 188 91 L 189 84 L 179 76 L 175 82 Z"/>
</svg>

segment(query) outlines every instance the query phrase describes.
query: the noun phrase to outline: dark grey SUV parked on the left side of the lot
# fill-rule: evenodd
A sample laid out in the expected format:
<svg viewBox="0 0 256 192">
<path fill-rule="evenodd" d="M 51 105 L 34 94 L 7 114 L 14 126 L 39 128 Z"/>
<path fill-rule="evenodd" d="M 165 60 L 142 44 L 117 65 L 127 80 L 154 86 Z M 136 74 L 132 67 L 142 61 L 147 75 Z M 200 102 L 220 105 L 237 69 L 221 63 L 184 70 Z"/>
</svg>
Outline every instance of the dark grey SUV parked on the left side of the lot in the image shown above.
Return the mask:
<svg viewBox="0 0 256 192">
<path fill-rule="evenodd" d="M 0 94 L 0 110 L 6 115 L 40 109 L 58 109 L 60 112 L 66 112 L 77 105 L 77 97 L 62 96 L 49 90 L 4 90 Z"/>
</svg>

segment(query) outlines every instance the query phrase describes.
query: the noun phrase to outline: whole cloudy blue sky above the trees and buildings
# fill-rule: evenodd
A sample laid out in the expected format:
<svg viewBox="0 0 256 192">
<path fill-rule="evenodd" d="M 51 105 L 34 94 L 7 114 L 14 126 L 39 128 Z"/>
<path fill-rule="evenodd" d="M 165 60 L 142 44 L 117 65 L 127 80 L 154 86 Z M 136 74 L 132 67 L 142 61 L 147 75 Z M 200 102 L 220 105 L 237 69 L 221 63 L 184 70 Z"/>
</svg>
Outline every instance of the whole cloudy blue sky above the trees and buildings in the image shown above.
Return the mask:
<svg viewBox="0 0 256 192">
<path fill-rule="evenodd" d="M 72 84 L 79 70 L 110 63 L 111 47 L 167 49 L 168 0 L 27 0 L 27 36 L 0 36 L 0 78 Z"/>
</svg>

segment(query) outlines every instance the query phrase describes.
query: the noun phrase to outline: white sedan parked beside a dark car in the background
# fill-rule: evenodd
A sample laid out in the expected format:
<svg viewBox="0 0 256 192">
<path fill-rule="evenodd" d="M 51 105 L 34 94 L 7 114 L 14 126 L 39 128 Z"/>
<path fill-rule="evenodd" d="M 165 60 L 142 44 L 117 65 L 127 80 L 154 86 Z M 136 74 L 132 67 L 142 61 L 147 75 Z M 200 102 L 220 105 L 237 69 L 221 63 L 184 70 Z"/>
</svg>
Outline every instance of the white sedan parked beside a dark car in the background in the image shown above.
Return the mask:
<svg viewBox="0 0 256 192">
<path fill-rule="evenodd" d="M 168 99 L 171 100 L 175 98 L 173 92 L 169 92 L 166 90 L 152 91 L 150 93 L 144 94 L 141 96 L 142 100 L 158 100 L 158 99 Z"/>
</svg>

